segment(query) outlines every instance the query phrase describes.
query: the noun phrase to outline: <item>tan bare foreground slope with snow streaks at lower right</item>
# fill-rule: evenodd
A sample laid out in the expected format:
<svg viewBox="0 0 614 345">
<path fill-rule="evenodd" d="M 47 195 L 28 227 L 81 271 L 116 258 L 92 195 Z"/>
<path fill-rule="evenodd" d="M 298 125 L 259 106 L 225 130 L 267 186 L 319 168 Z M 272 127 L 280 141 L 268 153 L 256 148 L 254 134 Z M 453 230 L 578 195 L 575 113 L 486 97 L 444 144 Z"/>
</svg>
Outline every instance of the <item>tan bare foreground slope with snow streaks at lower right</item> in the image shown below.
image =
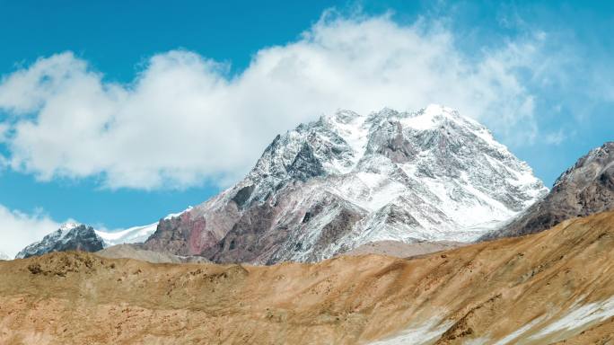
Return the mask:
<svg viewBox="0 0 614 345">
<path fill-rule="evenodd" d="M 413 260 L 53 253 L 0 262 L 0 343 L 590 343 L 612 331 L 612 249 L 614 213 L 603 213 Z"/>
</svg>

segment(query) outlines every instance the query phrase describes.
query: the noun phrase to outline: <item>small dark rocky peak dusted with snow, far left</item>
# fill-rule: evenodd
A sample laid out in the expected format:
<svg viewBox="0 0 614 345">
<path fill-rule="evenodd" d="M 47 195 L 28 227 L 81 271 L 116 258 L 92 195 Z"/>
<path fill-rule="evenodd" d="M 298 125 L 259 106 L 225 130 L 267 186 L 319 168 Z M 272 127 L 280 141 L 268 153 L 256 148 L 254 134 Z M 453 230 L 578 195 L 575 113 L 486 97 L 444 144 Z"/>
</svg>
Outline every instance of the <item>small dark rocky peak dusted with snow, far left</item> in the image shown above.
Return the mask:
<svg viewBox="0 0 614 345">
<path fill-rule="evenodd" d="M 92 226 L 68 223 L 57 231 L 46 235 L 36 243 L 31 243 L 16 256 L 17 259 L 42 255 L 48 252 L 83 251 L 97 252 L 104 247 L 101 236 L 95 233 Z"/>
</svg>

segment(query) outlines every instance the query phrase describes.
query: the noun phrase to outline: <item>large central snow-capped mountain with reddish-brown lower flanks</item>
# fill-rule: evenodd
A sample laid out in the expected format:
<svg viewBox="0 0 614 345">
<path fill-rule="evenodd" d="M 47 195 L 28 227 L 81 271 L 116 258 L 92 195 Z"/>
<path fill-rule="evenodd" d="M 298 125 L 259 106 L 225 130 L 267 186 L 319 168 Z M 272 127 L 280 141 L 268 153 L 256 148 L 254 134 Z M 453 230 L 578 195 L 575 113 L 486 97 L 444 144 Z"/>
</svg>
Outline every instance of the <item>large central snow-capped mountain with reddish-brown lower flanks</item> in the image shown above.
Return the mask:
<svg viewBox="0 0 614 345">
<path fill-rule="evenodd" d="M 338 111 L 277 136 L 242 181 L 163 219 L 145 247 L 274 263 L 373 241 L 469 242 L 547 192 L 452 109 Z"/>
</svg>

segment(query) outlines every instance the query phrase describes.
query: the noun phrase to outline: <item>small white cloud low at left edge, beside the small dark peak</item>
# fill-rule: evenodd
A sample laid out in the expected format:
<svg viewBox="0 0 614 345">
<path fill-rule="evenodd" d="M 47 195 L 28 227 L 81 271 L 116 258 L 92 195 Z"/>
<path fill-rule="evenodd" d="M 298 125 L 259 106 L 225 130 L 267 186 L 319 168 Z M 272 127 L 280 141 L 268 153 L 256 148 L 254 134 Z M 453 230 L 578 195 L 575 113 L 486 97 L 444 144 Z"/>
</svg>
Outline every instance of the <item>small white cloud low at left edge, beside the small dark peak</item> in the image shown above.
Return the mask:
<svg viewBox="0 0 614 345">
<path fill-rule="evenodd" d="M 0 252 L 14 257 L 26 245 L 57 230 L 59 224 L 42 212 L 27 215 L 0 205 Z"/>
</svg>

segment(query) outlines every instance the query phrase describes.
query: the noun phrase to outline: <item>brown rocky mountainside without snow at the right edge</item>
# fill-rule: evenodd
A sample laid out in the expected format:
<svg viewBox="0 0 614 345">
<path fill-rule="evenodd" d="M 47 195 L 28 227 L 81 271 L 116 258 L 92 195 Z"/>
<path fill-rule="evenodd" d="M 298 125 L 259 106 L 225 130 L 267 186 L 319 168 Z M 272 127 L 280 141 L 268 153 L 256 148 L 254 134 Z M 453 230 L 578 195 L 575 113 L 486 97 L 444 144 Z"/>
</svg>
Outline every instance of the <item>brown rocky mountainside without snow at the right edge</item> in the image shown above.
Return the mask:
<svg viewBox="0 0 614 345">
<path fill-rule="evenodd" d="M 580 158 L 539 200 L 511 223 L 482 239 L 534 234 L 565 219 L 585 217 L 614 208 L 614 142 Z"/>
</svg>

